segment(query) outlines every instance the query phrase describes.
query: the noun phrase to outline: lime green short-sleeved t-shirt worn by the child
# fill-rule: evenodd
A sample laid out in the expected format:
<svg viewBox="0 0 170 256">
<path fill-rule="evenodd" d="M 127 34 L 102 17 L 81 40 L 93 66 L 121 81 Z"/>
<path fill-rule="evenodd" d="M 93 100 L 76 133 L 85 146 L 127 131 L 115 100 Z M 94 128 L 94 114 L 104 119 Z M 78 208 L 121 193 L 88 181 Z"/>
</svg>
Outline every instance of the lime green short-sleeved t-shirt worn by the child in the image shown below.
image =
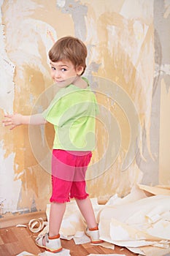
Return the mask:
<svg viewBox="0 0 170 256">
<path fill-rule="evenodd" d="M 88 80 L 82 78 L 85 81 Z M 73 84 L 61 88 L 42 115 L 54 125 L 54 149 L 91 151 L 96 146 L 95 124 L 98 105 L 90 86 Z"/>
</svg>

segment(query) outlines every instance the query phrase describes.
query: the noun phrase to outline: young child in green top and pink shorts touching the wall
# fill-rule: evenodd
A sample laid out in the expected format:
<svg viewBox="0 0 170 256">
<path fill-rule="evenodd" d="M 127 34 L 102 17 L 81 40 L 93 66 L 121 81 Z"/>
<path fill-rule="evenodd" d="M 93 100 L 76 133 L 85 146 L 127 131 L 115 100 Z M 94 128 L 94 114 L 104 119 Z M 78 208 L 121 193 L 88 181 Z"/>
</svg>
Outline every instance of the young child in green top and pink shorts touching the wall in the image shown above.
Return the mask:
<svg viewBox="0 0 170 256">
<path fill-rule="evenodd" d="M 49 233 L 36 238 L 36 244 L 50 252 L 62 249 L 60 227 L 66 202 L 73 198 L 88 227 L 86 233 L 93 243 L 101 243 L 93 206 L 86 192 L 85 172 L 91 151 L 95 148 L 96 97 L 85 72 L 87 48 L 74 37 L 63 37 L 49 51 L 51 76 L 58 93 L 42 114 L 5 115 L 4 125 L 15 128 L 20 124 L 40 125 L 50 122 L 55 128 L 52 157 Z"/>
</svg>

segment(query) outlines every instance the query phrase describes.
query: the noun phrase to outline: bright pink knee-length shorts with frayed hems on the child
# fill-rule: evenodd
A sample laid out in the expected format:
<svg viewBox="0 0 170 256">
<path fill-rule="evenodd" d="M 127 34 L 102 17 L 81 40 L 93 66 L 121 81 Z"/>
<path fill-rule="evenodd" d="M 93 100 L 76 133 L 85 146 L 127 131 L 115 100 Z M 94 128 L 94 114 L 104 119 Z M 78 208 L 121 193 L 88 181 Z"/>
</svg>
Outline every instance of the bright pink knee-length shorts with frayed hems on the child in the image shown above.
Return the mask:
<svg viewBox="0 0 170 256">
<path fill-rule="evenodd" d="M 70 198 L 85 199 L 85 173 L 92 157 L 90 151 L 53 149 L 52 187 L 50 202 L 69 202 Z"/>
</svg>

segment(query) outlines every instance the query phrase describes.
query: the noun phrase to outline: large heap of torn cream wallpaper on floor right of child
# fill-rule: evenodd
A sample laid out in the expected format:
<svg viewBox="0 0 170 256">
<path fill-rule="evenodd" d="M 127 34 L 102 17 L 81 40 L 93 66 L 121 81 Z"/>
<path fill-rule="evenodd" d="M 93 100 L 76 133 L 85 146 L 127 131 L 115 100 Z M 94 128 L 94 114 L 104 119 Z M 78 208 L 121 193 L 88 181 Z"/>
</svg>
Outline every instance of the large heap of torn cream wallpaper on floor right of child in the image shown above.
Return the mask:
<svg viewBox="0 0 170 256">
<path fill-rule="evenodd" d="M 141 186 L 142 187 L 142 186 Z M 147 187 L 144 187 L 146 191 Z M 155 187 L 149 187 L 149 192 Z M 159 188 L 158 188 L 159 190 Z M 131 252 L 161 256 L 170 252 L 170 196 L 147 197 L 138 187 L 121 198 L 111 197 L 100 214 L 101 239 Z"/>
</svg>

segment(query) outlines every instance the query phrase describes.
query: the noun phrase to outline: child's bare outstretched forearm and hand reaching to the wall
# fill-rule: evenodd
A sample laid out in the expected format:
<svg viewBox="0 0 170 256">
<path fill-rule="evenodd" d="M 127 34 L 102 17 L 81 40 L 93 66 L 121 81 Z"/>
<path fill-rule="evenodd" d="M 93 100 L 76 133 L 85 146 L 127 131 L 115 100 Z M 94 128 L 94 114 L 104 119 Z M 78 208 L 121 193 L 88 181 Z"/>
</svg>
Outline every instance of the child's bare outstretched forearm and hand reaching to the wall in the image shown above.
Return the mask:
<svg viewBox="0 0 170 256">
<path fill-rule="evenodd" d="M 35 114 L 32 116 L 23 116 L 21 114 L 14 114 L 14 115 L 5 115 L 5 119 L 2 121 L 4 123 L 5 127 L 10 126 L 10 129 L 14 129 L 15 127 L 18 127 L 18 125 L 21 124 L 34 124 L 34 125 L 41 125 L 46 124 L 47 121 L 42 116 L 41 113 Z"/>
</svg>

